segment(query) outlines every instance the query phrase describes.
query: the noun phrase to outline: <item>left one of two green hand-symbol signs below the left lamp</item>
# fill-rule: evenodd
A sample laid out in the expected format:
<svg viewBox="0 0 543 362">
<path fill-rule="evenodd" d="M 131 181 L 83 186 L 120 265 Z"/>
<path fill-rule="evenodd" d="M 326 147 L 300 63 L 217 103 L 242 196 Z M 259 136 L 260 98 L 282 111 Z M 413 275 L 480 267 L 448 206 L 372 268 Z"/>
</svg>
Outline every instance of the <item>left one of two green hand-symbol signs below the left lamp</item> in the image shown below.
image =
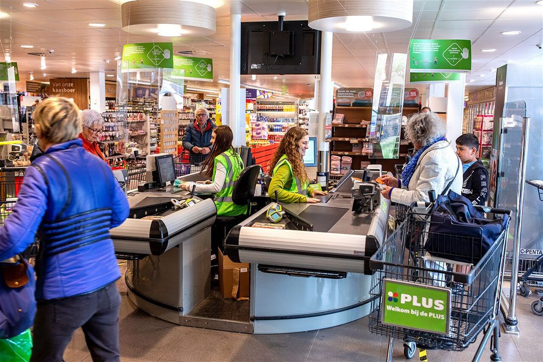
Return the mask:
<svg viewBox="0 0 543 362">
<path fill-rule="evenodd" d="M 141 69 L 173 68 L 173 43 L 125 44 L 121 63 L 122 72 Z"/>
</svg>

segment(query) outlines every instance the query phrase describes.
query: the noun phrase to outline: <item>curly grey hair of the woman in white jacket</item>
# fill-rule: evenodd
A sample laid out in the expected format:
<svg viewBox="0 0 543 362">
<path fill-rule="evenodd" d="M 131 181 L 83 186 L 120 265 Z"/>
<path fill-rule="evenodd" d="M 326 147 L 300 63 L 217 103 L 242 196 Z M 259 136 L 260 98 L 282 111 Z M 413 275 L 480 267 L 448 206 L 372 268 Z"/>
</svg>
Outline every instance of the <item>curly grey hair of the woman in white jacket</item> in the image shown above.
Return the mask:
<svg viewBox="0 0 543 362">
<path fill-rule="evenodd" d="M 434 112 L 418 113 L 409 118 L 406 126 L 407 138 L 423 147 L 435 138 L 444 136 L 445 131 L 445 122 Z"/>
</svg>

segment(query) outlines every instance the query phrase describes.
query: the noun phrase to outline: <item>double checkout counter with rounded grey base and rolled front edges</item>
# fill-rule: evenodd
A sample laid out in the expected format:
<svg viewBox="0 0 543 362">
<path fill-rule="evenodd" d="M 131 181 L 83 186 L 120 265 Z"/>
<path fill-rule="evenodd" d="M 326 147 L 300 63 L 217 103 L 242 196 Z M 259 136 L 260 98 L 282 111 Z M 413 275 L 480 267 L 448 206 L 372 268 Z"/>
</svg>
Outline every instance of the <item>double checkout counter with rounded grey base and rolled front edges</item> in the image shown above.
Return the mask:
<svg viewBox="0 0 543 362">
<path fill-rule="evenodd" d="M 386 238 L 390 201 L 377 193 L 371 213 L 353 212 L 352 177 L 362 172 L 346 174 L 320 204 L 282 205 L 281 230 L 252 227 L 269 223 L 269 206 L 232 229 L 225 255 L 250 263 L 249 301 L 222 299 L 210 288 L 212 200 L 195 196 L 197 204 L 173 209 L 165 199 L 190 195 L 168 188 L 130 193 L 130 218 L 111 230 L 116 252 L 129 259 L 130 301 L 179 325 L 243 333 L 310 331 L 368 315 L 369 258 Z M 247 315 L 229 317 L 240 313 Z"/>
</svg>

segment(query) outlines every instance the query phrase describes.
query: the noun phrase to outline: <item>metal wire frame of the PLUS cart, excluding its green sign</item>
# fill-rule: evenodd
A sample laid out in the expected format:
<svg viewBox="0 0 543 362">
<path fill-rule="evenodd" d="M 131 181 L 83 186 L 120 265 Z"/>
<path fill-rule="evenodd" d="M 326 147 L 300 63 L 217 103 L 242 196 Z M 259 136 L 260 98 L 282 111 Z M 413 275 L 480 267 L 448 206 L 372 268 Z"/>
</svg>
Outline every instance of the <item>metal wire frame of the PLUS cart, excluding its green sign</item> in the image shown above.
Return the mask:
<svg viewBox="0 0 543 362">
<path fill-rule="evenodd" d="M 471 243 L 480 245 L 481 238 L 458 237 L 450 234 L 431 232 L 434 221 L 430 221 L 428 208 L 432 204 L 414 203 L 406 219 L 396 228 L 380 249 L 370 259 L 370 268 L 374 272 L 370 295 L 373 297 L 370 312 L 370 331 L 389 336 L 388 360 L 392 360 L 394 338 L 405 341 L 404 354 L 413 357 L 415 344 L 420 348 L 462 351 L 474 342 L 483 331 L 484 338 L 479 345 L 474 361 L 481 358 L 490 336 L 491 359 L 500 361 L 498 352 L 499 324 L 496 319 L 499 310 L 499 296 L 503 283 L 503 265 L 506 249 L 505 230 L 481 259 L 471 255 L 471 263 L 456 262 L 449 259 L 435 258 L 426 250 L 428 240 L 437 240 L 441 245 L 448 243 Z M 415 207 L 424 211 L 415 211 Z M 493 218 L 501 218 L 510 211 L 477 207 L 479 211 L 490 213 Z M 489 215 L 489 214 L 487 214 Z M 440 248 L 441 249 L 441 248 Z M 458 270 L 468 269 L 468 272 Z M 418 287 L 437 286 L 450 290 L 450 308 L 448 329 L 445 334 L 406 328 L 383 322 L 384 303 L 383 280 L 394 280 Z M 389 299 L 390 301 L 390 299 Z M 493 331 L 493 333 L 489 333 Z"/>
</svg>

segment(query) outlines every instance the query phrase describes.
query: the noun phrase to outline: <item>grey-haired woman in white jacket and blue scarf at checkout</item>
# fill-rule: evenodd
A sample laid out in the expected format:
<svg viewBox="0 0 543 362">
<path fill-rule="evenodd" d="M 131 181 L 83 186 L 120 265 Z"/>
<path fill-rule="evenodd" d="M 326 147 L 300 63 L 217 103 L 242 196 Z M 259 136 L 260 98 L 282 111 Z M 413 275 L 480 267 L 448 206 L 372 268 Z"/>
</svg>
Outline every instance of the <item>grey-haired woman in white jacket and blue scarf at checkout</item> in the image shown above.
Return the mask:
<svg viewBox="0 0 543 362">
<path fill-rule="evenodd" d="M 449 190 L 462 194 L 462 163 L 445 138 L 445 130 L 443 120 L 433 112 L 419 113 L 408 120 L 406 135 L 417 152 L 403 169 L 401 180 L 381 177 L 386 185 L 381 192 L 385 198 L 411 205 L 430 201 L 430 190 L 436 195 Z"/>
</svg>

